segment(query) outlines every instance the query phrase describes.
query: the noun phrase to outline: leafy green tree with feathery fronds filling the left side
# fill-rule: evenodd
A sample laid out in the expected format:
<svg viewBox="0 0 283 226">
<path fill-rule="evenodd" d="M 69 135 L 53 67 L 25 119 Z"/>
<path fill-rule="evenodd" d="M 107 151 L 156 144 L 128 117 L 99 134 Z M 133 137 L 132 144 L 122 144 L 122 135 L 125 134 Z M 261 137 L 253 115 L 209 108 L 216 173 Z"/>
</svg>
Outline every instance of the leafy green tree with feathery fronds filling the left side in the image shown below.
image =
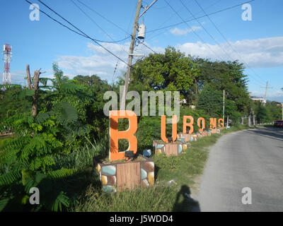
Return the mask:
<svg viewBox="0 0 283 226">
<path fill-rule="evenodd" d="M 38 209 L 57 211 L 69 206 L 69 198 L 54 186 L 54 181 L 71 176 L 76 169 L 54 168 L 54 157 L 70 153 L 79 137 L 88 133 L 83 124 L 83 107 L 89 96 L 85 87 L 64 78 L 57 67 L 54 74 L 50 87 L 47 78 L 41 80 L 45 89 L 38 91 L 36 117 L 28 111 L 1 119 L 0 132 L 11 128 L 13 138 L 0 148 L 0 196 L 4 200 L 0 209 L 11 203 L 28 203 L 33 186 L 43 194 Z M 23 91 L 23 98 L 34 94 Z"/>
</svg>

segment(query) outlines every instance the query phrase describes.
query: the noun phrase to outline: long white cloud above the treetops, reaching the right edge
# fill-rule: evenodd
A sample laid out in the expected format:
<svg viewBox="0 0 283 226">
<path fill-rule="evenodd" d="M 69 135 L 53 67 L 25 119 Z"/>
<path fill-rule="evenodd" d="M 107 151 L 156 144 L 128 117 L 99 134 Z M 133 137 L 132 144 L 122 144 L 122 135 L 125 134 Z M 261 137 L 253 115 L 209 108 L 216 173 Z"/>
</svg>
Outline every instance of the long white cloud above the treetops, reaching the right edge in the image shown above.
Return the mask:
<svg viewBox="0 0 283 226">
<path fill-rule="evenodd" d="M 216 44 L 187 42 L 177 44 L 176 48 L 192 56 L 219 60 L 238 59 L 241 62 L 245 61 L 252 68 L 283 66 L 283 37 L 226 42 L 221 44 L 221 47 Z"/>
</svg>

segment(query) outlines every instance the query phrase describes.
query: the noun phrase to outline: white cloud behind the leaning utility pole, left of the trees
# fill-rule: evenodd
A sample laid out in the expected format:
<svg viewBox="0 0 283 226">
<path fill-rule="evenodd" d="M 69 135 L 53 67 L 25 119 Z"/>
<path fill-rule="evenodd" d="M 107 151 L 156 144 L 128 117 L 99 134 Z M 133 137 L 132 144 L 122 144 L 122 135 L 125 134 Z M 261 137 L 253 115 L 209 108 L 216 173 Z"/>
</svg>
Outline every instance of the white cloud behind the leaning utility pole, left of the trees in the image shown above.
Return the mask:
<svg viewBox="0 0 283 226">
<path fill-rule="evenodd" d="M 147 46 L 146 42 L 144 43 Z M 57 58 L 57 62 L 60 68 L 63 71 L 66 71 L 66 75 L 69 78 L 73 78 L 74 76 L 81 74 L 84 76 L 90 76 L 93 74 L 97 74 L 102 79 L 106 79 L 108 81 L 112 81 L 113 73 L 115 70 L 115 66 L 117 64 L 117 58 L 112 54 L 107 52 L 103 47 L 109 49 L 110 52 L 115 54 L 117 57 L 120 57 L 123 61 L 127 62 L 128 57 L 128 49 L 129 42 L 122 44 L 115 43 L 103 43 L 103 47 L 95 45 L 93 43 L 88 43 L 87 47 L 91 50 L 91 56 L 89 57 L 81 57 L 81 56 L 59 56 Z M 152 47 L 155 52 L 163 52 L 164 49 L 161 47 Z M 138 47 L 135 47 L 134 54 L 144 54 L 145 56 L 151 52 L 150 49 L 146 48 L 143 44 L 139 44 Z M 137 57 L 134 57 L 134 61 Z M 127 70 L 127 65 L 119 61 L 115 73 L 115 78 L 117 76 L 121 76 Z"/>
</svg>

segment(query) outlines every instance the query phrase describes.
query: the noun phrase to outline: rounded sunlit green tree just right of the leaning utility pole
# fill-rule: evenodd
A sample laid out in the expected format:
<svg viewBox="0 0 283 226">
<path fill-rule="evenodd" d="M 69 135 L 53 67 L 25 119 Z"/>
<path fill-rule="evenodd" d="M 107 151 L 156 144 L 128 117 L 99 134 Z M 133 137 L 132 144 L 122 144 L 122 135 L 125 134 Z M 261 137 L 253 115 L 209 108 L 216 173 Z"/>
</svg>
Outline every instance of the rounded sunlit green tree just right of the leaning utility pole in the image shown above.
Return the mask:
<svg viewBox="0 0 283 226">
<path fill-rule="evenodd" d="M 185 57 L 184 53 L 173 47 L 167 47 L 164 54 L 149 54 L 149 57 L 134 64 L 129 89 L 178 90 L 181 98 L 189 100 L 197 73 L 190 57 Z"/>
</svg>

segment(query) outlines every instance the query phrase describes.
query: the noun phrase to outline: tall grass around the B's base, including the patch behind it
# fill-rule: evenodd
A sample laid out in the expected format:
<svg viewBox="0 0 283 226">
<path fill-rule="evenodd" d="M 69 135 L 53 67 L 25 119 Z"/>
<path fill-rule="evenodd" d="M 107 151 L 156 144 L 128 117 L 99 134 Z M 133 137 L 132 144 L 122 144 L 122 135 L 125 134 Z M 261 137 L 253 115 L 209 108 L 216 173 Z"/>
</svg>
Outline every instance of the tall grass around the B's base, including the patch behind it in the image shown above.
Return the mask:
<svg viewBox="0 0 283 226">
<path fill-rule="evenodd" d="M 241 129 L 246 129 L 246 127 L 232 127 L 221 131 L 221 135 Z M 194 186 L 195 176 L 202 174 L 204 169 L 209 146 L 216 143 L 221 135 L 214 134 L 194 141 L 190 148 L 187 148 L 185 153 L 179 156 L 153 156 L 156 174 L 155 185 L 137 187 L 132 191 L 119 191 L 115 194 L 105 194 L 100 191 L 98 174 L 94 173 L 91 161 L 94 156 L 105 155 L 105 152 L 108 152 L 107 137 L 69 155 L 57 157 L 57 167 L 69 166 L 80 169 L 81 176 L 84 175 L 81 182 L 86 183 L 83 191 L 76 195 L 68 210 L 76 212 L 175 211 L 175 206 L 180 206 L 186 201 L 185 198 L 178 199 L 178 196 L 184 195 L 182 187 L 187 186 L 186 192 L 190 194 L 190 186 Z M 177 184 L 169 186 L 167 182 L 171 179 L 175 179 Z M 78 182 L 76 179 L 74 180 L 74 184 Z M 190 209 L 191 203 L 185 206 L 181 205 L 178 211 L 190 211 Z"/>
</svg>

